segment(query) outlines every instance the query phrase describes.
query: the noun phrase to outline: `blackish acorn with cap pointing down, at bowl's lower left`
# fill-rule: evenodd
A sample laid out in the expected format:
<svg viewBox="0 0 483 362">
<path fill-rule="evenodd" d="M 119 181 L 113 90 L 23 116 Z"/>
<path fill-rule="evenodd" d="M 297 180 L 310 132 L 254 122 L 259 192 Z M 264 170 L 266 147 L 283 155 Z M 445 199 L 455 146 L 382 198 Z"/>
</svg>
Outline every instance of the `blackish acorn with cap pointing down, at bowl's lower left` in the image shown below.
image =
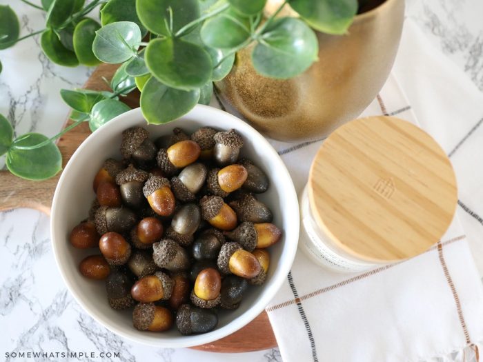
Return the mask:
<svg viewBox="0 0 483 362">
<path fill-rule="evenodd" d="M 131 296 L 132 279 L 123 270 L 113 270 L 106 279 L 106 291 L 111 308 L 126 309 L 135 304 Z"/>
</svg>

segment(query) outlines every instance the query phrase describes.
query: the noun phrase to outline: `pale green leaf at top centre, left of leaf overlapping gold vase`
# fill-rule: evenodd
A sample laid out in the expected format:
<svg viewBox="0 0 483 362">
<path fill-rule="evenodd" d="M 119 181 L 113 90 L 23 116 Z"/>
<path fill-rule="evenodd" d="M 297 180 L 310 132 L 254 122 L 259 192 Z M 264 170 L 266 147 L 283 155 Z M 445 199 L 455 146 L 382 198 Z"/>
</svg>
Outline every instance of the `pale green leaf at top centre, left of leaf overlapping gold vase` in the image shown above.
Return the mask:
<svg viewBox="0 0 483 362">
<path fill-rule="evenodd" d="M 201 27 L 201 40 L 211 48 L 233 49 L 250 37 L 248 18 L 226 10 L 206 21 Z"/>
</svg>

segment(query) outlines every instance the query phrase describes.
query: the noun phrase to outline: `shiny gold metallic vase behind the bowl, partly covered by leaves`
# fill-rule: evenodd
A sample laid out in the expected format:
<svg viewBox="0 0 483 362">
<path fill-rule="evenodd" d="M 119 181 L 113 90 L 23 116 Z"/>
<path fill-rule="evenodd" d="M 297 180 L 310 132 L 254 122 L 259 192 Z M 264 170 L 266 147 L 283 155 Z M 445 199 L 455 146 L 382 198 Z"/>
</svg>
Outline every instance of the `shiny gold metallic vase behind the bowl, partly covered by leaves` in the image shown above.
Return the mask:
<svg viewBox="0 0 483 362">
<path fill-rule="evenodd" d="M 266 11 L 280 0 L 268 0 Z M 283 16 L 292 10 L 282 12 Z M 268 137 L 318 139 L 359 116 L 391 71 L 400 43 L 404 0 L 359 0 L 347 34 L 317 32 L 319 61 L 286 80 L 257 74 L 250 54 L 237 53 L 228 77 L 217 82 L 221 99 Z"/>
</svg>

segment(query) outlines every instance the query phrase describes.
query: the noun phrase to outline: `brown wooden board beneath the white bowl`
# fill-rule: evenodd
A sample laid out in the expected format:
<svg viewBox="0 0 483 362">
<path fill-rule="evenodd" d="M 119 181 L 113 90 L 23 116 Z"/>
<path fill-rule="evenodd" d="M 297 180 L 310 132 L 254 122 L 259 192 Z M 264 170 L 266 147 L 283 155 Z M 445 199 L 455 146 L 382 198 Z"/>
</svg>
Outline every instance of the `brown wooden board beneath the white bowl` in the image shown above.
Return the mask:
<svg viewBox="0 0 483 362">
<path fill-rule="evenodd" d="M 110 80 L 116 69 L 117 66 L 115 65 L 103 64 L 99 66 L 88 79 L 84 88 L 110 90 L 103 79 Z M 139 107 L 139 93 L 133 92 L 128 97 L 123 98 L 122 101 L 130 105 L 131 108 L 137 108 Z M 69 125 L 70 122 L 68 120 L 66 125 Z M 88 124 L 83 123 L 59 139 L 58 145 L 63 157 L 63 166 L 66 165 L 77 147 L 89 134 Z M 59 177 L 60 174 L 46 181 L 27 181 L 15 177 L 10 172 L 0 171 L 0 211 L 14 208 L 33 208 L 50 214 L 52 197 Z M 277 341 L 275 341 L 268 316 L 266 312 L 262 312 L 254 321 L 238 332 L 219 341 L 199 345 L 195 349 L 210 352 L 250 352 L 266 350 L 276 345 Z"/>
</svg>

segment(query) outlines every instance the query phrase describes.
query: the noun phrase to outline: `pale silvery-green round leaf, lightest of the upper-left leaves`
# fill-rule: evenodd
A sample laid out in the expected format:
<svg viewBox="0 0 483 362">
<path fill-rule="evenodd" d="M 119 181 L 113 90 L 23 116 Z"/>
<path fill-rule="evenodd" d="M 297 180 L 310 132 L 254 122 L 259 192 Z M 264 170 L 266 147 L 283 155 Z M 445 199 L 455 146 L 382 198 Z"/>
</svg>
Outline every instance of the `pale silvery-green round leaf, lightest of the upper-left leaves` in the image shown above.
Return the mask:
<svg viewBox="0 0 483 362">
<path fill-rule="evenodd" d="M 132 21 L 118 21 L 96 32 L 92 51 L 104 63 L 124 63 L 137 54 L 141 30 Z"/>
</svg>

